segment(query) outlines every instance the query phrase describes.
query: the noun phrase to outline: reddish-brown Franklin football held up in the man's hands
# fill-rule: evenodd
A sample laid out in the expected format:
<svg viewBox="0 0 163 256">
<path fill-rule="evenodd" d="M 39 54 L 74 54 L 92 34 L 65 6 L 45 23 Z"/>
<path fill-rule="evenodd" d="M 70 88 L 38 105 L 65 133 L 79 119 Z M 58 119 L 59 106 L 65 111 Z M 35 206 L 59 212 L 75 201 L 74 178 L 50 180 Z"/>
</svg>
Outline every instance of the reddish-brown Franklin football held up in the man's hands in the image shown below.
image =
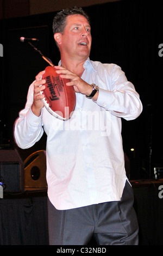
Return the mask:
<svg viewBox="0 0 163 256">
<path fill-rule="evenodd" d="M 73 114 L 76 106 L 76 93 L 73 86 L 66 86 L 67 80 L 61 78 L 54 66 L 47 66 L 45 74 L 41 79 L 45 79 L 45 90 L 41 91 L 45 97 L 42 99 L 47 111 L 54 117 L 61 120 L 68 120 Z"/>
</svg>

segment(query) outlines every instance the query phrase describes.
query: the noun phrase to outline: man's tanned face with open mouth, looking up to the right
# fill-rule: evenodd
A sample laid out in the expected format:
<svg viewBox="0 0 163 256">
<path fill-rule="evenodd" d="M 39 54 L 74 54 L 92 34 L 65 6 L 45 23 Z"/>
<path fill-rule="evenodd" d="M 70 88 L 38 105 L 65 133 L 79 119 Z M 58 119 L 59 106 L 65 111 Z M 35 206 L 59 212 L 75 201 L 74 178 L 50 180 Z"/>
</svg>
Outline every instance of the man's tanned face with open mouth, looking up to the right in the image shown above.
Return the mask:
<svg viewBox="0 0 163 256">
<path fill-rule="evenodd" d="M 70 59 L 87 59 L 91 42 L 91 27 L 87 19 L 79 14 L 68 16 L 64 33 L 61 34 L 60 52 Z"/>
</svg>

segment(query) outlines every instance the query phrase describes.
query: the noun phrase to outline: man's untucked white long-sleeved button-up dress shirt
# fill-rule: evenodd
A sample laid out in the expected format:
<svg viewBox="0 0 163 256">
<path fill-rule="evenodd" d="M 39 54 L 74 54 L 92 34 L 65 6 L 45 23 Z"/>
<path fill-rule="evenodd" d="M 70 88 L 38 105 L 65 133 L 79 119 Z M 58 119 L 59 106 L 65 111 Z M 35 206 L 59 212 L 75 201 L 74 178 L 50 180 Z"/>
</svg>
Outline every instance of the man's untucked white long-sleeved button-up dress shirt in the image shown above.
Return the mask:
<svg viewBox="0 0 163 256">
<path fill-rule="evenodd" d="M 15 122 L 15 141 L 23 149 L 46 132 L 48 197 L 59 210 L 121 199 L 127 180 L 121 118 L 132 120 L 142 111 L 139 94 L 119 66 L 88 58 L 84 69 L 82 79 L 99 87 L 97 101 L 76 93 L 69 120 L 53 117 L 45 107 L 36 117 L 30 108 L 32 83 L 26 107 Z"/>
</svg>

